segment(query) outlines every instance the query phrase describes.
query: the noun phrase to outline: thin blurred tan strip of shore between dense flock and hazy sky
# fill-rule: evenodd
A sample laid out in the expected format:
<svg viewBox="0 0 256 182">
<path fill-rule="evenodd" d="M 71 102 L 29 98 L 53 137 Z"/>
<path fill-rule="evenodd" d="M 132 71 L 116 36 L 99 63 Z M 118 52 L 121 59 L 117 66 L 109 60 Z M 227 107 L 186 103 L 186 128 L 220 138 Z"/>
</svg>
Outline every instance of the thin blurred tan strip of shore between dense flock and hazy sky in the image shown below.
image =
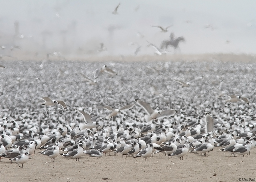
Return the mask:
<svg viewBox="0 0 256 182">
<path fill-rule="evenodd" d="M 42 61 L 46 58 L 28 55 L 16 55 L 15 57 L 3 56 L 1 61 Z M 249 54 L 173 54 L 173 55 L 141 55 L 141 56 L 63 56 L 62 58 L 50 56 L 51 61 L 84 61 L 84 62 L 155 62 L 155 61 L 221 61 L 221 62 L 256 62 L 256 55 Z"/>
</svg>

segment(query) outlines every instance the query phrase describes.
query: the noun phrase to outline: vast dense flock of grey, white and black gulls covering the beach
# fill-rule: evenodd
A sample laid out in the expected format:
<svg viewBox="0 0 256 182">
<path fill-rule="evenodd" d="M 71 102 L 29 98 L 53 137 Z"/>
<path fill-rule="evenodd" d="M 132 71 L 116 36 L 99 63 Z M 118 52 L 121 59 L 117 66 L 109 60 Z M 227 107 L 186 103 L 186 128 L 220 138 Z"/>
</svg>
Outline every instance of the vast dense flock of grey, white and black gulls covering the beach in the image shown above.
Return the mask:
<svg viewBox="0 0 256 182">
<path fill-rule="evenodd" d="M 255 63 L 1 64 L 0 165 L 23 167 L 38 152 L 52 162 L 245 156 L 256 144 Z"/>
</svg>

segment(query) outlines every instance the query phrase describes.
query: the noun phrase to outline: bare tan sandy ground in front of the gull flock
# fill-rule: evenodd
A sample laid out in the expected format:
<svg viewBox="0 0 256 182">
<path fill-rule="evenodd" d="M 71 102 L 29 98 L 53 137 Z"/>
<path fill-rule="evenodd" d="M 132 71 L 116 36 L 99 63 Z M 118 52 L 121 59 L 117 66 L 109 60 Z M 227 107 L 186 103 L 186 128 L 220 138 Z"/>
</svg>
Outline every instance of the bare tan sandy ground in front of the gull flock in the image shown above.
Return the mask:
<svg viewBox="0 0 256 182">
<path fill-rule="evenodd" d="M 188 153 L 184 160 L 154 154 L 148 158 L 122 158 L 122 155 L 92 158 L 84 154 L 80 162 L 75 159 L 58 156 L 55 162 L 39 153 L 23 165 L 10 163 L 6 158 L 0 162 L 1 182 L 28 181 L 216 181 L 230 182 L 256 178 L 256 152 L 251 155 L 233 155 L 214 150 L 204 157 L 201 154 Z M 216 175 L 214 175 L 216 174 Z M 245 181 L 245 180 L 244 180 Z"/>
</svg>

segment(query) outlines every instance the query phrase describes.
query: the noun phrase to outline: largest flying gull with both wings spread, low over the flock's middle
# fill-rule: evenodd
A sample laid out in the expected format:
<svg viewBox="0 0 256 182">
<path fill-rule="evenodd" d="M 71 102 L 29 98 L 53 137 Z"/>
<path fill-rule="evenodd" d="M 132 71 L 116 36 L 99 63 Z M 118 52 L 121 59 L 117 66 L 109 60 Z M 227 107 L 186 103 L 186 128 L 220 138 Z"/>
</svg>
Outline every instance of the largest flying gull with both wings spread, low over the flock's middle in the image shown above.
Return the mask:
<svg viewBox="0 0 256 182">
<path fill-rule="evenodd" d="M 150 122 L 153 119 L 159 119 L 166 116 L 172 116 L 176 114 L 175 110 L 165 110 L 165 111 L 155 111 L 153 110 L 150 105 L 146 102 L 143 102 L 139 99 L 135 99 L 136 103 L 138 103 L 146 112 L 148 115 L 145 116 L 145 119 L 147 122 Z"/>
</svg>

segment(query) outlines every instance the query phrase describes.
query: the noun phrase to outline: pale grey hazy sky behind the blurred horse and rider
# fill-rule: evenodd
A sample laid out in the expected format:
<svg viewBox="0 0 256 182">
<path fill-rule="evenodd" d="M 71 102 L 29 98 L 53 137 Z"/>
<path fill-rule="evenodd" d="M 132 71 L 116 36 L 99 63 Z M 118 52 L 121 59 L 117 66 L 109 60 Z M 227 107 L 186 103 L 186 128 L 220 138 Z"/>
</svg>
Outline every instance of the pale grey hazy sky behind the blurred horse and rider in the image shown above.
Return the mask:
<svg viewBox="0 0 256 182">
<path fill-rule="evenodd" d="M 186 40 L 181 54 L 255 54 L 255 9 L 254 0 L 0 0 L 0 46 L 17 45 L 28 54 L 102 56 L 133 55 L 138 46 L 129 43 L 136 42 L 142 46 L 138 55 L 153 55 L 146 41 L 160 46 L 173 32 Z M 15 21 L 22 39 L 14 38 Z M 171 24 L 166 33 L 151 27 Z M 101 42 L 108 51 L 97 53 Z"/>
</svg>

